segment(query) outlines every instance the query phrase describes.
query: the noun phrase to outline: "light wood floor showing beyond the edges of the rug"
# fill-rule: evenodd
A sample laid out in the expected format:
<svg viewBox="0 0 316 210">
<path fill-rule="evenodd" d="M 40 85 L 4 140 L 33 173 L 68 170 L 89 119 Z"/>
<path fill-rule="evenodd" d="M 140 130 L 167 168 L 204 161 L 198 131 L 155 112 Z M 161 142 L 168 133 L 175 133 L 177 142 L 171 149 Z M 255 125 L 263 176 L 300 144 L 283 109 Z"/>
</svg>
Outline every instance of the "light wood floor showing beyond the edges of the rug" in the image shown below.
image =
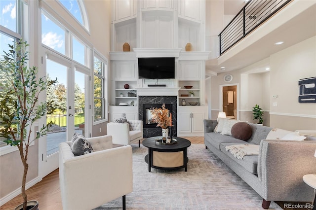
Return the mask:
<svg viewBox="0 0 316 210">
<path fill-rule="evenodd" d="M 184 137 L 192 143 L 204 143 L 204 137 Z M 56 169 L 45 176 L 39 183 L 27 190 L 28 200 L 37 200 L 40 210 L 62 210 L 59 171 Z M 19 195 L 0 207 L 0 210 L 13 210 L 23 202 Z"/>
</svg>

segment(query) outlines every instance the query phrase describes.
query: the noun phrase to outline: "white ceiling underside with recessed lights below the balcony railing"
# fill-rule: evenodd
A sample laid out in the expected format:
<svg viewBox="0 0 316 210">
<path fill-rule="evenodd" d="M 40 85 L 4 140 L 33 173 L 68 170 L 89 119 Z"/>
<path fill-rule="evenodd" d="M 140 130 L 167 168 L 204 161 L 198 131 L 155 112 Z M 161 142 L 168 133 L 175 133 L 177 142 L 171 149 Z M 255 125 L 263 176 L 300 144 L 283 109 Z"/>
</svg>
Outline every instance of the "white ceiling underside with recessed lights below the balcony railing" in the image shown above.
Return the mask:
<svg viewBox="0 0 316 210">
<path fill-rule="evenodd" d="M 238 1 L 240 3 L 240 0 L 232 0 L 235 4 Z M 216 75 L 220 72 L 245 68 L 280 50 L 315 36 L 316 1 L 305 1 L 304 5 L 302 3 L 304 4 L 303 0 L 290 2 L 286 6 L 287 8 L 271 17 L 219 58 L 206 61 L 206 73 Z M 225 8 L 225 12 L 234 11 L 232 8 Z M 284 41 L 284 43 L 275 45 L 274 43 L 277 41 Z M 269 64 L 262 65 L 262 68 L 266 68 Z M 221 67 L 225 67 L 225 69 L 223 70 Z"/>
</svg>

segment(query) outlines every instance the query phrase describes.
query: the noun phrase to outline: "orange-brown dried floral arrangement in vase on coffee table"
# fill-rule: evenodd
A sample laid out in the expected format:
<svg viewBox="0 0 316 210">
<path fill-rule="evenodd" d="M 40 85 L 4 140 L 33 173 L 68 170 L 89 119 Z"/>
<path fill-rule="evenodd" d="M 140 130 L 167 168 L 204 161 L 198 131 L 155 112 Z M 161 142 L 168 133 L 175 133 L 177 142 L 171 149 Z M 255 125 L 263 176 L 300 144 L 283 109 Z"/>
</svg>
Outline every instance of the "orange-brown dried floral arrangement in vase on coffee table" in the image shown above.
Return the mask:
<svg viewBox="0 0 316 210">
<path fill-rule="evenodd" d="M 153 121 L 158 123 L 157 127 L 168 128 L 172 126 L 172 113 L 170 113 L 168 117 L 168 112 L 165 104 L 161 105 L 161 108 L 152 107 L 150 109 L 150 113 L 153 115 Z"/>
</svg>

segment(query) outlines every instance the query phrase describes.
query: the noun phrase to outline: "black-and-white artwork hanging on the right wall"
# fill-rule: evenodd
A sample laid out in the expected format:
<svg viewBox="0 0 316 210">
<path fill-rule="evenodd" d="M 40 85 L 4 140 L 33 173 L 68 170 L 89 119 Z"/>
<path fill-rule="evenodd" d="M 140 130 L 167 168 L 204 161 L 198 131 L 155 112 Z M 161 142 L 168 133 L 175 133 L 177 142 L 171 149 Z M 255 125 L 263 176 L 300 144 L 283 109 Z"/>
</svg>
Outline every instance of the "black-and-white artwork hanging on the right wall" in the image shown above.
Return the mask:
<svg viewBox="0 0 316 210">
<path fill-rule="evenodd" d="M 300 79 L 298 103 L 316 103 L 316 76 Z"/>
</svg>

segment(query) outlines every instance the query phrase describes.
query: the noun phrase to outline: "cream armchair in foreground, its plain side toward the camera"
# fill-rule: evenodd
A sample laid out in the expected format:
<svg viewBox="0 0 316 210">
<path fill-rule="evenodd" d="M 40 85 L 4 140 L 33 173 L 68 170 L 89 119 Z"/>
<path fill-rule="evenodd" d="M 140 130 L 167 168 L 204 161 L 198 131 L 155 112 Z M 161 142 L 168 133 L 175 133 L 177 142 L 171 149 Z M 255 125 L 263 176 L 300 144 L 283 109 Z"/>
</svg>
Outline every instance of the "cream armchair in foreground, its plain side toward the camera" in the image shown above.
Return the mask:
<svg viewBox="0 0 316 210">
<path fill-rule="evenodd" d="M 91 210 L 133 190 L 132 148 L 112 148 L 112 137 L 87 139 L 94 152 L 74 156 L 70 141 L 59 144 L 59 182 L 64 210 Z"/>
</svg>

